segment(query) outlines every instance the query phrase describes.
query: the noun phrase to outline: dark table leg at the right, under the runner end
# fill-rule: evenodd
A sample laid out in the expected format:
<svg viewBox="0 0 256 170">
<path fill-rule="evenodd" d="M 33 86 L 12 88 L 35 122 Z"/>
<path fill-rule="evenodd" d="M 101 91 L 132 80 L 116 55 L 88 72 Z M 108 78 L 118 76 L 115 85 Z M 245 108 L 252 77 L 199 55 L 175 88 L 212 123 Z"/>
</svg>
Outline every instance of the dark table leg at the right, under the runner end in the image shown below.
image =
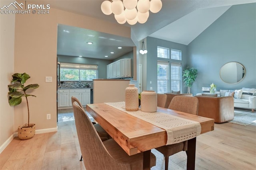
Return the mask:
<svg viewBox="0 0 256 170">
<path fill-rule="evenodd" d="M 196 137 L 188 140 L 187 170 L 195 169 L 196 161 Z"/>
</svg>

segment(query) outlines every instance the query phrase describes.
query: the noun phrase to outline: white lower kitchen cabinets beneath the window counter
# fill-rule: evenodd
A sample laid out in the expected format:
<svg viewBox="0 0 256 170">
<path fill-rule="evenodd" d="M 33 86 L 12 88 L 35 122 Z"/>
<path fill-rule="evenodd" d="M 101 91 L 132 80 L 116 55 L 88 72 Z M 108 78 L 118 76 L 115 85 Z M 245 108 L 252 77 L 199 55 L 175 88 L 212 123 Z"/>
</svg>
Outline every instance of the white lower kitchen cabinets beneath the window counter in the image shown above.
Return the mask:
<svg viewBox="0 0 256 170">
<path fill-rule="evenodd" d="M 77 98 L 82 106 L 90 104 L 90 88 L 58 89 L 58 107 L 72 107 L 71 97 Z"/>
</svg>

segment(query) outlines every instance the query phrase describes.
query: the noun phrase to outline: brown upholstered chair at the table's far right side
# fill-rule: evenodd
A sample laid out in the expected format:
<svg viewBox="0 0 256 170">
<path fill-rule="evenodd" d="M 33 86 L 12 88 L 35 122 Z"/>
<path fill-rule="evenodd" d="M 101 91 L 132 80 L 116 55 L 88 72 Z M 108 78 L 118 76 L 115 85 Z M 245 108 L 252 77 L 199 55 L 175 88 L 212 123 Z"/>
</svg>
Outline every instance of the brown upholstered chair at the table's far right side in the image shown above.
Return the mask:
<svg viewBox="0 0 256 170">
<path fill-rule="evenodd" d="M 198 114 L 198 99 L 196 97 L 190 96 L 174 96 L 168 109 L 182 111 L 185 113 L 190 113 L 193 115 Z M 156 148 L 159 152 L 164 155 L 165 159 L 165 170 L 168 170 L 169 156 L 176 154 L 180 151 L 188 150 L 188 141 L 183 141 L 180 143 L 165 145 Z"/>
</svg>

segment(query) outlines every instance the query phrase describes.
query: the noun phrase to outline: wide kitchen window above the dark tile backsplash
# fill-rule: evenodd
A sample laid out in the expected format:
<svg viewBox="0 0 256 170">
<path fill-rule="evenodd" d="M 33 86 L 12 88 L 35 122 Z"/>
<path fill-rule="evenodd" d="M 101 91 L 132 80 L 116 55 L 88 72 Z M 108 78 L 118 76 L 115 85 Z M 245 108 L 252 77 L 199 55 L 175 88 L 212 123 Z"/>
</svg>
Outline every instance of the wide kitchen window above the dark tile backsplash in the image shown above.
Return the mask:
<svg viewBox="0 0 256 170">
<path fill-rule="evenodd" d="M 61 81 L 92 81 L 98 78 L 98 65 L 60 63 Z"/>
</svg>

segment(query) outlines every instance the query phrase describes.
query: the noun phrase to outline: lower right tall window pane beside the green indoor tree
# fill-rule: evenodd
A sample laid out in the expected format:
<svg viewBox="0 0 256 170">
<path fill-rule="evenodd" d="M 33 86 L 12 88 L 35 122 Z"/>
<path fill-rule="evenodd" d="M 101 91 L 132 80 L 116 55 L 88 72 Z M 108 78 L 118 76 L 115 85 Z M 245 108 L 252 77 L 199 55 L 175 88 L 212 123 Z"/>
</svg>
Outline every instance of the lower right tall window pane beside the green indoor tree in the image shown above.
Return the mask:
<svg viewBox="0 0 256 170">
<path fill-rule="evenodd" d="M 171 63 L 171 90 L 179 91 L 180 90 L 180 63 Z"/>
</svg>

